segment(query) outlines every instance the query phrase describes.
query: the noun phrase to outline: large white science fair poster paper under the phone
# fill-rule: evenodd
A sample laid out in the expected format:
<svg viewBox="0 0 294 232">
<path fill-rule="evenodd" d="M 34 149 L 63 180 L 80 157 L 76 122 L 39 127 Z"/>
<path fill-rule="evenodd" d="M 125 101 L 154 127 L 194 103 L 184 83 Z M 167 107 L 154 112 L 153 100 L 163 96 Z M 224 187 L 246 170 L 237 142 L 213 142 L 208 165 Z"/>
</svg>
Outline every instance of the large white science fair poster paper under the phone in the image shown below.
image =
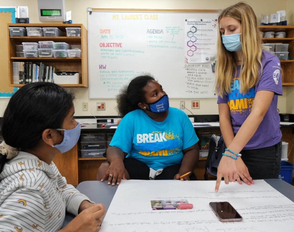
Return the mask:
<svg viewBox="0 0 294 232">
<path fill-rule="evenodd" d="M 110 204 L 101 230 L 135 232 L 187 231 L 293 231 L 294 203 L 263 180 L 254 185 L 215 181 L 122 181 Z M 187 199 L 189 210 L 152 210 L 150 200 Z M 209 207 L 228 201 L 242 222 L 220 222 Z"/>
</svg>

